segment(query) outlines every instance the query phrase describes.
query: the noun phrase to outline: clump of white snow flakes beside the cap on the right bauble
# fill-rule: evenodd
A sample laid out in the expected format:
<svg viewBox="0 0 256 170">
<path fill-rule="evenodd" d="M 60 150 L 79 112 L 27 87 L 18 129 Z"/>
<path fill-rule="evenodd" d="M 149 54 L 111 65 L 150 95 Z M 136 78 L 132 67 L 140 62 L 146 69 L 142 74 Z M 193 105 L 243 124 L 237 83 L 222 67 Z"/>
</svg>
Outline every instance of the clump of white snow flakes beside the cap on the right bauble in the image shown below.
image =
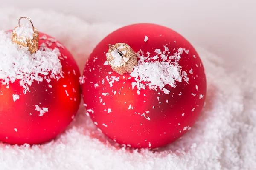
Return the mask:
<svg viewBox="0 0 256 170">
<path fill-rule="evenodd" d="M 145 86 L 154 90 L 159 88 L 164 93 L 169 94 L 170 91 L 164 88 L 166 85 L 175 88 L 176 82 L 189 81 L 188 74 L 182 71 L 179 65 L 180 56 L 185 49 L 179 48 L 173 55 L 169 55 L 168 51 L 169 49 L 164 46 L 163 52 L 161 49 L 154 51 L 156 53 L 154 57 L 150 57 L 149 53 L 147 53 L 148 56 L 143 56 L 141 50 L 137 53 L 137 57 L 140 59 L 130 75 L 135 79 L 135 82 L 132 82 L 132 88 L 137 86 L 138 94 L 140 94 L 141 89 L 145 89 Z"/>
</svg>

